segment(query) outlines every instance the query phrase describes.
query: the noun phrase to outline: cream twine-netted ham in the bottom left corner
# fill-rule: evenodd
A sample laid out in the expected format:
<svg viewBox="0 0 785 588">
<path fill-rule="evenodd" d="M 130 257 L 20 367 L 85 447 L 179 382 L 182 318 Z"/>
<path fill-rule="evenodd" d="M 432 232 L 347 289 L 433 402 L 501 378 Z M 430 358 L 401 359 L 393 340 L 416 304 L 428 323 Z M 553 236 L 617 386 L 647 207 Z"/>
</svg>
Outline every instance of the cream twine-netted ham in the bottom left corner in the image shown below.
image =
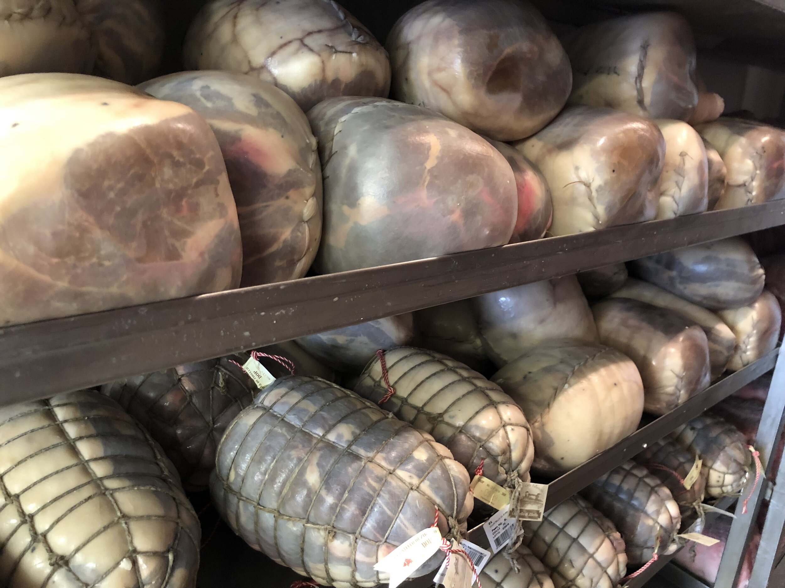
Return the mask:
<svg viewBox="0 0 785 588">
<path fill-rule="evenodd" d="M 195 586 L 199 521 L 173 466 L 96 391 L 0 409 L 0 492 L 0 586 Z"/>
</svg>

